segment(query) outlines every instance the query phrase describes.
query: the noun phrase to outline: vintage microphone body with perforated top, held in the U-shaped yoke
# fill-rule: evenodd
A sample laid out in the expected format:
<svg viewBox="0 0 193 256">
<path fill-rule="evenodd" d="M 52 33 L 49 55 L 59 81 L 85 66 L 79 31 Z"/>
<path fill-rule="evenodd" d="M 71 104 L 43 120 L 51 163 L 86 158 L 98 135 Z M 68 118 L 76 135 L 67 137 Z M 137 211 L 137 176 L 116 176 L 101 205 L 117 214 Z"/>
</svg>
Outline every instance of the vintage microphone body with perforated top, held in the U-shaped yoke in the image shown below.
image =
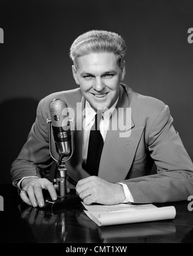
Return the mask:
<svg viewBox="0 0 193 256">
<path fill-rule="evenodd" d="M 62 158 L 68 157 L 72 153 L 68 105 L 61 99 L 53 99 L 49 104 L 49 110 L 57 153 Z"/>
</svg>

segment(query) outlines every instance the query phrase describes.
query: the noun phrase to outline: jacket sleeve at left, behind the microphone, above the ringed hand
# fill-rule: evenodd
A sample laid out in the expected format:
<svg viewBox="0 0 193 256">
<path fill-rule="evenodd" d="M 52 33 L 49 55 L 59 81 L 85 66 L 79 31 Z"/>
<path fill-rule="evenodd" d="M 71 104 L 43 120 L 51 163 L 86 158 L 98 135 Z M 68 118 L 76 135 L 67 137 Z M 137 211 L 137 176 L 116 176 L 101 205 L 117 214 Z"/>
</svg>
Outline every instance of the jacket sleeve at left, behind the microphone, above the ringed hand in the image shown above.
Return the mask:
<svg viewBox="0 0 193 256">
<path fill-rule="evenodd" d="M 28 176 L 48 177 L 53 160 L 50 157 L 47 115 L 42 113 L 42 101 L 28 139 L 10 170 L 12 184 Z"/>
</svg>

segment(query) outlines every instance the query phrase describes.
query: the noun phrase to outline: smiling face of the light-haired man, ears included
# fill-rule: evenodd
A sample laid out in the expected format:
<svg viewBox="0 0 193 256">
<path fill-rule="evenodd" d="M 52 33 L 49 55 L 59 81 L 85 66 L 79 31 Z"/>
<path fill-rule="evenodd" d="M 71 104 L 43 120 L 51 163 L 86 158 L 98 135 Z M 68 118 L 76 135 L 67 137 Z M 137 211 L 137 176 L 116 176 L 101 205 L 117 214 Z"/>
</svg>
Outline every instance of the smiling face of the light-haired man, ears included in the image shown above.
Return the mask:
<svg viewBox="0 0 193 256">
<path fill-rule="evenodd" d="M 95 109 L 111 108 L 120 92 L 120 81 L 125 76 L 125 63 L 118 66 L 111 52 L 91 53 L 78 57 L 73 77 L 84 98 Z"/>
</svg>

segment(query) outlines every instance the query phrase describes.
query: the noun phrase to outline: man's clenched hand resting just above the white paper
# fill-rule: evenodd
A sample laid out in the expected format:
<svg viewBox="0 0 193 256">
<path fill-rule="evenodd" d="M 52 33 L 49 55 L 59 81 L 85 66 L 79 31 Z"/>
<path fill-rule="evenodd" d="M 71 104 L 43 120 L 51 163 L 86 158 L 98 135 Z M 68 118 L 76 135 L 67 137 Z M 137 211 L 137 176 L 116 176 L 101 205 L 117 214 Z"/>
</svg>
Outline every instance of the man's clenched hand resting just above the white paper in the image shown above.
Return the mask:
<svg viewBox="0 0 193 256">
<path fill-rule="evenodd" d="M 125 200 L 121 184 L 111 183 L 96 176 L 78 181 L 76 191 L 86 204 L 119 204 Z"/>
</svg>

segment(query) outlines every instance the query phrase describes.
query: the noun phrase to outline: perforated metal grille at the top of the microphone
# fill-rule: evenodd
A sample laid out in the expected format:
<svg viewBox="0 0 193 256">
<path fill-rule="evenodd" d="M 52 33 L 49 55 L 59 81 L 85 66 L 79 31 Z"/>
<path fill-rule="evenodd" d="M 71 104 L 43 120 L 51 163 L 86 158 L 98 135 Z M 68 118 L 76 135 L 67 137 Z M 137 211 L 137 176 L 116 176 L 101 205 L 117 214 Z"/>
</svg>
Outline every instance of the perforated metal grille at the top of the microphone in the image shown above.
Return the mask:
<svg viewBox="0 0 193 256">
<path fill-rule="evenodd" d="M 49 104 L 51 124 L 56 127 L 69 125 L 68 105 L 61 99 L 53 99 Z"/>
</svg>

